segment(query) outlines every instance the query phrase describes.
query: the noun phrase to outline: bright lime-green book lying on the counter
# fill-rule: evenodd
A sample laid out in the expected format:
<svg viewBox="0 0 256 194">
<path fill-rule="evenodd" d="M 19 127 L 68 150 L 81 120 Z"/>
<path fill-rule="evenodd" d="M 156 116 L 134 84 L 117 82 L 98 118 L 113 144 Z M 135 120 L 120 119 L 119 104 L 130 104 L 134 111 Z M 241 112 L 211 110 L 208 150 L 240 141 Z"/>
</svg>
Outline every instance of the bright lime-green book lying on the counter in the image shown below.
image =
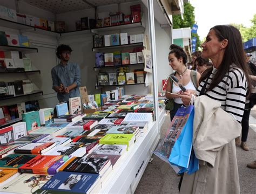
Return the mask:
<svg viewBox="0 0 256 194">
<path fill-rule="evenodd" d="M 126 144 L 127 147 L 134 143 L 133 134 L 106 134 L 99 140 L 100 144 Z"/>
</svg>

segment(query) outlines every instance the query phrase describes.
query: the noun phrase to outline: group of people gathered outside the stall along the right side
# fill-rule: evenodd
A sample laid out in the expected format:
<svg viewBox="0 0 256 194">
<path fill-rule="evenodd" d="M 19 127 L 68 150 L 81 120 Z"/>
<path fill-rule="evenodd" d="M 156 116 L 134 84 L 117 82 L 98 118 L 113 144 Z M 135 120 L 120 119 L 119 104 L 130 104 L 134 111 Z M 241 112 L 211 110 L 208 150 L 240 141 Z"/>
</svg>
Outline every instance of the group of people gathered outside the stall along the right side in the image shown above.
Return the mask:
<svg viewBox="0 0 256 194">
<path fill-rule="evenodd" d="M 252 55 L 245 53 L 243 49 L 239 30 L 232 25 L 212 27 L 201 47 L 203 51 L 192 53 L 192 61 L 187 63 L 183 48 L 178 45 L 170 46 L 168 60 L 174 70 L 171 75 L 178 79 L 178 84 L 186 88 L 183 92 L 172 79 L 168 80 L 166 98 L 174 101 L 173 109 L 170 111 L 171 120 L 179 107 L 188 105 L 193 99 L 197 101 L 197 98 L 206 99 L 209 107 L 212 102 L 218 103 L 219 108 L 224 110 L 221 113 L 228 116 L 219 117 L 220 122 L 214 128 L 215 134 L 211 132 L 212 136 L 219 137 L 217 134 L 219 130 L 225 131 L 218 141 L 204 142 L 207 138 L 201 140 L 201 143 L 206 143 L 204 156 L 197 155 L 198 150 L 195 154 L 199 160 L 206 159 L 199 162 L 199 174 L 181 175 L 179 191 L 180 193 L 207 193 L 207 191 L 240 193 L 235 145 L 239 145 L 245 151 L 250 149 L 246 141 L 250 110 L 256 99 L 254 95 L 256 67 L 250 61 Z M 193 82 L 194 71 L 196 71 L 196 81 Z M 201 96 L 207 97 L 201 98 Z M 198 110 L 195 107 L 196 111 Z M 212 114 L 215 110 L 208 111 Z M 207 119 L 206 115 L 203 116 L 201 122 Z M 218 118 L 218 115 L 214 116 Z M 226 124 L 233 122 L 232 119 L 235 119 L 235 126 L 241 133 L 241 138 L 233 129 L 224 128 Z M 204 135 L 207 135 L 206 130 Z M 256 169 L 256 161 L 247 164 L 247 167 Z M 230 176 L 231 174 L 233 177 Z"/>
</svg>

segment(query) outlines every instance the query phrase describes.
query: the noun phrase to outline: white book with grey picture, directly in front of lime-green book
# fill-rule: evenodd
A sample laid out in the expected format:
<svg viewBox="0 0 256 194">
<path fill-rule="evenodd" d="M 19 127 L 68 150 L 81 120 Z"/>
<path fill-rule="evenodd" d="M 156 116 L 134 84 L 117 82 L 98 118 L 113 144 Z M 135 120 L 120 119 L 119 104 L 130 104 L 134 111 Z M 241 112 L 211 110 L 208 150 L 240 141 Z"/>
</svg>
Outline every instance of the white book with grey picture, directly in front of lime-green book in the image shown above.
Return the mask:
<svg viewBox="0 0 256 194">
<path fill-rule="evenodd" d="M 125 153 L 127 145 L 125 144 L 98 144 L 93 149 L 92 154 L 107 154 L 121 156 Z"/>
</svg>

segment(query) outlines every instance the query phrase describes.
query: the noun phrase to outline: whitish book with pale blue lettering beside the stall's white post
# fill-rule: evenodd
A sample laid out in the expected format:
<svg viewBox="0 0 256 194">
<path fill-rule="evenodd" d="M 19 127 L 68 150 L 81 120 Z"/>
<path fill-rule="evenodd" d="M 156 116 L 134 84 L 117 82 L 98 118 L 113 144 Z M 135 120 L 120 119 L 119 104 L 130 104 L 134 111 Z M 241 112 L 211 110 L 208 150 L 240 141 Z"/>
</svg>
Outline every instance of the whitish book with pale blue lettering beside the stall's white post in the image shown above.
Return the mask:
<svg viewBox="0 0 256 194">
<path fill-rule="evenodd" d="M 147 122 L 153 121 L 152 113 L 127 113 L 122 124 L 127 124 L 129 122 Z"/>
</svg>

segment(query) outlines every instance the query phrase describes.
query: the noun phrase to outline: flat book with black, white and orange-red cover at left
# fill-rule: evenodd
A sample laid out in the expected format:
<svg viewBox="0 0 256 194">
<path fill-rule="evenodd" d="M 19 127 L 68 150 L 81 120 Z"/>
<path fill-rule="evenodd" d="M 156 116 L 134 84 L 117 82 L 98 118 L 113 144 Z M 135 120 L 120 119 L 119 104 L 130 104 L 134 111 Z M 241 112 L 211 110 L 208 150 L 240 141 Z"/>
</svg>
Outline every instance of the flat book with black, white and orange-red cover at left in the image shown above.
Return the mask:
<svg viewBox="0 0 256 194">
<path fill-rule="evenodd" d="M 15 154 L 43 154 L 55 147 L 55 143 L 27 143 L 14 150 Z"/>
</svg>

